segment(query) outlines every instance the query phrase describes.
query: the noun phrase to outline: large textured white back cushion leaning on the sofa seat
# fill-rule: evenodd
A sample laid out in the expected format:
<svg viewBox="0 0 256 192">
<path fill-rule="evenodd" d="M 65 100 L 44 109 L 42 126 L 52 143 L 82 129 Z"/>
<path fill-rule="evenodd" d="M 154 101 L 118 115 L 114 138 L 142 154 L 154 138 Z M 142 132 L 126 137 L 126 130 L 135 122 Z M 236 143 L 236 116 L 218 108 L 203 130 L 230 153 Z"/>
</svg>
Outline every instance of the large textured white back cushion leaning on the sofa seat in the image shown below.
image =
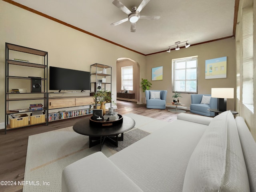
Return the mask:
<svg viewBox="0 0 256 192">
<path fill-rule="evenodd" d="M 213 118 L 192 153 L 183 192 L 249 192 L 244 156 L 230 111 Z"/>
</svg>

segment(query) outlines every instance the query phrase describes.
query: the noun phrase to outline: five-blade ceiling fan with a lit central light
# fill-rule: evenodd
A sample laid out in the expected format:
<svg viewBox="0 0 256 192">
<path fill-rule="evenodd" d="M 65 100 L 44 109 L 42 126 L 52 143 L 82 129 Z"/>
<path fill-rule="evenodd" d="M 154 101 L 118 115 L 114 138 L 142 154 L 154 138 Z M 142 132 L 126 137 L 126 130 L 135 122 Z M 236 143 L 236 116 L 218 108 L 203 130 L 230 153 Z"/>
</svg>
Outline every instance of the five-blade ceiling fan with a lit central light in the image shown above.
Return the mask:
<svg viewBox="0 0 256 192">
<path fill-rule="evenodd" d="M 130 21 L 130 23 L 131 23 L 131 32 L 136 32 L 136 22 L 139 19 L 151 19 L 151 20 L 159 19 L 160 16 L 144 16 L 144 15 L 140 15 L 141 10 L 146 6 L 146 4 L 148 4 L 149 1 L 150 0 L 142 0 L 140 5 L 138 6 L 138 8 L 136 6 L 133 6 L 132 7 L 132 11 L 130 11 L 119 0 L 114 0 L 112 3 L 116 7 L 120 8 L 123 12 L 128 14 L 128 18 L 125 18 L 125 19 L 122 19 L 120 21 L 114 22 L 111 25 L 116 26 L 116 25 L 119 25 L 119 24 L 124 23 L 126 21 Z"/>
</svg>

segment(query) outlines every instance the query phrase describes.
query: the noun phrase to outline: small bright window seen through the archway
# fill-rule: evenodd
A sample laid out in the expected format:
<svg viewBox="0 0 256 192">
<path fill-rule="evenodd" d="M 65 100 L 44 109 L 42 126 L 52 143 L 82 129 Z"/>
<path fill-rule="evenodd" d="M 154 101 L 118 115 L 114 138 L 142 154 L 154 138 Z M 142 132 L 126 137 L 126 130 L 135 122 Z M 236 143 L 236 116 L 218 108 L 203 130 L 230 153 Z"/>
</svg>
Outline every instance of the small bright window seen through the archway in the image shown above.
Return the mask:
<svg viewBox="0 0 256 192">
<path fill-rule="evenodd" d="M 133 67 L 122 67 L 122 90 L 133 90 Z"/>
</svg>

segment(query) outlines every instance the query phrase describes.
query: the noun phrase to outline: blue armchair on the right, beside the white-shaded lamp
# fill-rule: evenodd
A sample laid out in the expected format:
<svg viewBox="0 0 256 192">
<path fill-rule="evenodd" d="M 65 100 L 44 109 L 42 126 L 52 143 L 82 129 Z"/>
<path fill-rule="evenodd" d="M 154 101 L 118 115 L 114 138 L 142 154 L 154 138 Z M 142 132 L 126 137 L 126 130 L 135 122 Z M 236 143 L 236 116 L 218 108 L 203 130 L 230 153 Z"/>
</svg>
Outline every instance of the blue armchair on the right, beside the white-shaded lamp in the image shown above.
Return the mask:
<svg viewBox="0 0 256 192">
<path fill-rule="evenodd" d="M 191 105 L 190 112 L 204 115 L 204 116 L 214 116 L 214 112 L 208 111 L 208 109 L 216 109 L 217 108 L 217 98 L 210 98 L 209 103 L 201 103 L 202 97 L 211 96 L 208 94 L 192 94 L 191 95 Z"/>
</svg>

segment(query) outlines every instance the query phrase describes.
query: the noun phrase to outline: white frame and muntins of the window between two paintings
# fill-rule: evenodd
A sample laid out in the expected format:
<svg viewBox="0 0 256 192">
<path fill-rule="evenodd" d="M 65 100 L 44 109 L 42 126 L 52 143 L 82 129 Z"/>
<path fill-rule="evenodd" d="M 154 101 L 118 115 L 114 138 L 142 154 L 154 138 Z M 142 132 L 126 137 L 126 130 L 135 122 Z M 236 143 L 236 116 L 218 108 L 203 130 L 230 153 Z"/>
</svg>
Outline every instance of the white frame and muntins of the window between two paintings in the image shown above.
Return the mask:
<svg viewBox="0 0 256 192">
<path fill-rule="evenodd" d="M 193 67 L 193 68 L 188 68 L 187 67 L 187 62 L 190 61 L 190 60 L 196 60 L 196 67 Z M 176 69 L 176 63 L 177 62 L 182 62 L 182 61 L 185 61 L 186 62 L 186 67 L 185 68 L 178 68 Z M 191 57 L 186 57 L 186 58 L 178 58 L 178 59 L 172 59 L 172 92 L 179 92 L 179 93 L 193 93 L 193 94 L 197 94 L 198 92 L 198 75 L 197 75 L 197 66 L 198 66 L 198 56 L 191 56 Z M 188 79 L 186 78 L 186 72 L 188 69 L 196 69 L 196 78 L 195 79 Z M 177 80 L 176 79 L 176 72 L 178 70 L 185 70 L 185 80 Z M 188 81 L 191 81 L 191 80 L 196 80 L 196 91 L 195 92 L 192 92 L 192 91 L 189 91 L 189 90 L 186 90 L 186 82 Z M 177 81 L 185 81 L 185 90 L 181 91 L 181 90 L 178 90 L 176 88 L 176 82 Z"/>
</svg>

